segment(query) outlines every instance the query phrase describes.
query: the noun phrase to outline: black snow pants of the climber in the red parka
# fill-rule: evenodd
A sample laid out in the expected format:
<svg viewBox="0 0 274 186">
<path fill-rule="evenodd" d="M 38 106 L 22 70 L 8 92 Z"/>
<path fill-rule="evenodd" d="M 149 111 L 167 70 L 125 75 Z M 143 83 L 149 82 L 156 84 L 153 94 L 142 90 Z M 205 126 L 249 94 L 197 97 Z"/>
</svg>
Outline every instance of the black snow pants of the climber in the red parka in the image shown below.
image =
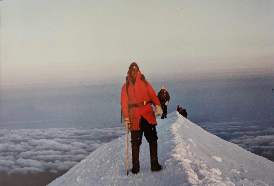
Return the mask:
<svg viewBox="0 0 274 186">
<path fill-rule="evenodd" d="M 148 121 L 141 116 L 141 130 L 132 130 L 131 133 L 131 149 L 132 149 L 132 164 L 139 165 L 140 145 L 142 144 L 143 133 L 150 147 L 150 161 L 157 161 L 157 132 L 156 125 L 149 124 Z"/>
</svg>

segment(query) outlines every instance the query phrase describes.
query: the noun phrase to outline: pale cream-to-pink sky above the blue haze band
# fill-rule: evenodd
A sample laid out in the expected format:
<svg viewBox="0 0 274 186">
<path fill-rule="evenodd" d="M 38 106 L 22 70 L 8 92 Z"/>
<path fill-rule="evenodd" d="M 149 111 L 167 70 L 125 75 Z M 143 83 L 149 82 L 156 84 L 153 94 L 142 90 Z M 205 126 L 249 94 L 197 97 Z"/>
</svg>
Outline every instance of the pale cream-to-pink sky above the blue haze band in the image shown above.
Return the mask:
<svg viewBox="0 0 274 186">
<path fill-rule="evenodd" d="M 0 1 L 1 81 L 274 73 L 274 1 Z"/>
</svg>

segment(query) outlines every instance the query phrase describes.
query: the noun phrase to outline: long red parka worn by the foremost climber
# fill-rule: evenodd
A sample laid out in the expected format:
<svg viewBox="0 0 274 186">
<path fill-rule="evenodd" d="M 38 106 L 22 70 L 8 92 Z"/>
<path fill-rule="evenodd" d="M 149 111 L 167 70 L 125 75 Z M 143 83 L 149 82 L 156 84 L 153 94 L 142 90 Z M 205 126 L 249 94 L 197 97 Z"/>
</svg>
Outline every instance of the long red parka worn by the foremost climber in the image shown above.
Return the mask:
<svg viewBox="0 0 274 186">
<path fill-rule="evenodd" d="M 130 74 L 128 72 L 128 80 L 130 82 L 128 86 L 128 93 L 126 91 L 126 84 L 122 87 L 121 92 L 121 106 L 122 106 L 122 113 L 123 118 L 130 119 L 130 130 L 140 130 L 140 119 L 141 115 L 148 121 L 148 123 L 152 125 L 157 125 L 156 118 L 154 115 L 153 108 L 151 104 L 147 105 L 141 105 L 138 107 L 132 107 L 128 109 L 129 104 L 137 104 L 143 101 L 151 101 L 154 106 L 159 105 L 160 101 L 158 97 L 156 96 L 155 90 L 152 88 L 152 86 L 149 84 L 147 80 L 147 86 L 141 80 L 141 71 L 139 70 L 136 76 L 135 84 L 133 85 Z"/>
</svg>

